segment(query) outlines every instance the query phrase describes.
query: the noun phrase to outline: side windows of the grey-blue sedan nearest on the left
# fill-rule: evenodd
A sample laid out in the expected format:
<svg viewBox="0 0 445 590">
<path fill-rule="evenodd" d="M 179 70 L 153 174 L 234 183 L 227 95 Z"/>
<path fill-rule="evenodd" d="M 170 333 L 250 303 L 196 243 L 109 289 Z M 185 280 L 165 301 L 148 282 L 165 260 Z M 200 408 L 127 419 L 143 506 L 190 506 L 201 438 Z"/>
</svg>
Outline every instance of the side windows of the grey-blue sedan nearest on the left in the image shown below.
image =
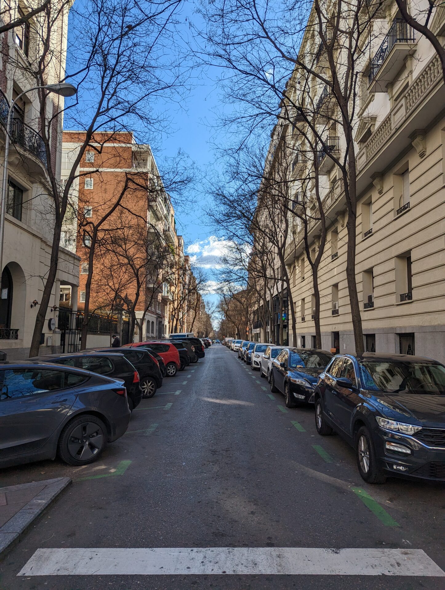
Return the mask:
<svg viewBox="0 0 445 590">
<path fill-rule="evenodd" d="M 26 368 L 0 371 L 0 399 L 5 401 L 63 389 L 68 385 L 66 383 L 67 375 L 69 373 L 51 369 Z"/>
</svg>

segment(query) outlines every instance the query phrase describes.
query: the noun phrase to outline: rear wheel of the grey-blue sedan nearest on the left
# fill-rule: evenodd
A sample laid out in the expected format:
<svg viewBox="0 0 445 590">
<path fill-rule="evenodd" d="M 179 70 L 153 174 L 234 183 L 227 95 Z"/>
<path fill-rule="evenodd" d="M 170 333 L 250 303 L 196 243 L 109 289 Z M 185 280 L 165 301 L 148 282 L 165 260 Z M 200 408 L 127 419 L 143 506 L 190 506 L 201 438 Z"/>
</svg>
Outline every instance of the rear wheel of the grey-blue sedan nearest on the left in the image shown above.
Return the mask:
<svg viewBox="0 0 445 590">
<path fill-rule="evenodd" d="M 74 418 L 63 428 L 58 451 L 69 465 L 87 465 L 99 458 L 106 447 L 107 432 L 102 420 L 91 414 Z"/>
</svg>

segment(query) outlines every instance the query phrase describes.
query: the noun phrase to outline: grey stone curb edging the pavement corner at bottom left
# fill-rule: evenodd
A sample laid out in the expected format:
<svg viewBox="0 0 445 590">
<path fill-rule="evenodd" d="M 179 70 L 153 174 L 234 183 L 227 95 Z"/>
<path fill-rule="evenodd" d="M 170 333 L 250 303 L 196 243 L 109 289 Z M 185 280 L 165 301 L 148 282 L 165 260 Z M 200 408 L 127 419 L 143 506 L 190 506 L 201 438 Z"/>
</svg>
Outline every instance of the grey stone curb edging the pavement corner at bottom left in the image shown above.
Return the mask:
<svg viewBox="0 0 445 590">
<path fill-rule="evenodd" d="M 72 483 L 70 477 L 58 477 L 51 480 L 33 481 L 33 483 L 19 484 L 17 486 L 3 487 L 0 489 L 2 493 L 17 491 L 20 489 L 29 489 L 30 487 L 41 487 L 45 484 L 45 488 L 30 500 L 25 506 L 12 516 L 8 522 L 0 527 L 0 560 L 4 558 L 6 553 L 20 541 L 21 536 L 37 519 L 50 504 L 59 496 L 68 484 Z"/>
</svg>

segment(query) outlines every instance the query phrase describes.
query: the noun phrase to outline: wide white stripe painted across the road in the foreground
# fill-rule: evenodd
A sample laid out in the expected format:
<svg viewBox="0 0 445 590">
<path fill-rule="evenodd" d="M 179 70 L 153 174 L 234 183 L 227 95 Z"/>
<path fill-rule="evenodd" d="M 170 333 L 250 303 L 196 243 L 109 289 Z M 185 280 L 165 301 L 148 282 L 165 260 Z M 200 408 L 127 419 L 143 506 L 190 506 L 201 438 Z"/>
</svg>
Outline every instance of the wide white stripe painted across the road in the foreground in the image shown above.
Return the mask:
<svg viewBox="0 0 445 590">
<path fill-rule="evenodd" d="M 287 574 L 445 576 L 421 549 L 38 549 L 19 576 Z"/>
</svg>

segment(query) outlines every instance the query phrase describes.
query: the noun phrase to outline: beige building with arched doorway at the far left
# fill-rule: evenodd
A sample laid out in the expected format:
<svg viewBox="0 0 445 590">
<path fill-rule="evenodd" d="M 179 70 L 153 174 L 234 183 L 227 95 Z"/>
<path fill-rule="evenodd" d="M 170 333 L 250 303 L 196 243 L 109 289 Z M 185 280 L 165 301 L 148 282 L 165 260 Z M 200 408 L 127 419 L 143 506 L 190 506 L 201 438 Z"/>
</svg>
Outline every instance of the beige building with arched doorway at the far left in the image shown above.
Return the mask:
<svg viewBox="0 0 445 590">
<path fill-rule="evenodd" d="M 6 6 L 6 5 L 5 5 Z M 34 5 L 12 2 L 2 11 L 1 22 L 10 22 L 28 14 Z M 54 212 L 48 167 L 60 174 L 61 126 L 63 97 L 48 95 L 48 129 L 51 116 L 51 157 L 41 135 L 42 121 L 35 90 L 35 70 L 43 52 L 51 54 L 51 67 L 46 71 L 46 83 L 58 83 L 64 78 L 64 55 L 68 11 L 64 9 L 48 32 L 44 13 L 27 24 L 2 34 L 0 48 L 0 143 L 4 161 L 4 143 L 8 109 L 14 105 L 10 130 L 11 146 L 8 159 L 8 193 L 5 216 L 4 257 L 0 299 L 0 349 L 8 359 L 29 356 L 35 317 L 40 306 L 45 277 L 48 273 L 53 241 Z M 22 94 L 24 93 L 24 94 Z M 20 95 L 22 96 L 20 97 Z M 40 353 L 56 352 L 60 345 L 57 328 L 60 289 L 76 290 L 79 283 L 79 258 L 73 251 L 61 247 L 56 282 L 41 335 Z"/>
</svg>

